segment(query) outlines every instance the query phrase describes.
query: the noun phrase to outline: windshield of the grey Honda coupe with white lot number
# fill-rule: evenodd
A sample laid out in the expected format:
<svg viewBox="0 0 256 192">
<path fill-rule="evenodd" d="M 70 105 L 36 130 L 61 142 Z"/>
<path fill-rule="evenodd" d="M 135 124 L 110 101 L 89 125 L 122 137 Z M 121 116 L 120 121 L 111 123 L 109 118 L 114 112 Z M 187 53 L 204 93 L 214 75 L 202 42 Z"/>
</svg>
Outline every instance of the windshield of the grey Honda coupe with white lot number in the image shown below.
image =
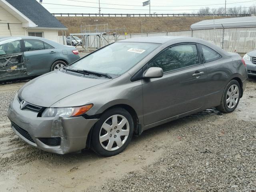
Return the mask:
<svg viewBox="0 0 256 192">
<path fill-rule="evenodd" d="M 135 66 L 159 44 L 117 42 L 70 65 L 70 69 L 120 75 Z"/>
</svg>

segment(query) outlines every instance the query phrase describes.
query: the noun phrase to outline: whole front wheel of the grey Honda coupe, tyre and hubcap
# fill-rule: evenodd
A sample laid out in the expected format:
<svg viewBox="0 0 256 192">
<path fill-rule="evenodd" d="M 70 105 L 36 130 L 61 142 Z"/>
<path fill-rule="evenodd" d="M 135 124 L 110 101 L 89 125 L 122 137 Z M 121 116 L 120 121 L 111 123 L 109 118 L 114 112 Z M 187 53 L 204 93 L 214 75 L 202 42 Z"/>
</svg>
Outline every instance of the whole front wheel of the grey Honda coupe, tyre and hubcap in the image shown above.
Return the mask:
<svg viewBox="0 0 256 192">
<path fill-rule="evenodd" d="M 132 139 L 134 123 L 123 108 L 112 108 L 102 114 L 92 130 L 92 149 L 102 156 L 122 152 Z"/>
</svg>

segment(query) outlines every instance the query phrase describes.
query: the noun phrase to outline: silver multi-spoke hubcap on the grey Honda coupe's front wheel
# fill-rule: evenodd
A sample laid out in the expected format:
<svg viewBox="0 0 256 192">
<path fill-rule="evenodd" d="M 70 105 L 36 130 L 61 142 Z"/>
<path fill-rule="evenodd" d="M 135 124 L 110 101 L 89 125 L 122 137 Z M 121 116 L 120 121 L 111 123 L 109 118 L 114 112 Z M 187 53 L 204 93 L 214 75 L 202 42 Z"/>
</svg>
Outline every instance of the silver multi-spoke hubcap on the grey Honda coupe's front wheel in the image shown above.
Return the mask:
<svg viewBox="0 0 256 192">
<path fill-rule="evenodd" d="M 110 116 L 100 128 L 100 144 L 108 151 L 121 148 L 130 132 L 128 120 L 122 115 Z"/>
</svg>

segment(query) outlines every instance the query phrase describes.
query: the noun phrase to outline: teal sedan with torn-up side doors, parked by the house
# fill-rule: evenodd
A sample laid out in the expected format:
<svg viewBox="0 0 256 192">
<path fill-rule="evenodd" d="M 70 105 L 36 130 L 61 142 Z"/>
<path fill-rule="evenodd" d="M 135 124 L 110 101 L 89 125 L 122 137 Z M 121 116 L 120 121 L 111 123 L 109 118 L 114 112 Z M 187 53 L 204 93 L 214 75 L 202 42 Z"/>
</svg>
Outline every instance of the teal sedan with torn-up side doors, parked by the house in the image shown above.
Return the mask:
<svg viewBox="0 0 256 192">
<path fill-rule="evenodd" d="M 72 46 L 40 37 L 0 37 L 0 82 L 39 76 L 80 57 Z"/>
</svg>

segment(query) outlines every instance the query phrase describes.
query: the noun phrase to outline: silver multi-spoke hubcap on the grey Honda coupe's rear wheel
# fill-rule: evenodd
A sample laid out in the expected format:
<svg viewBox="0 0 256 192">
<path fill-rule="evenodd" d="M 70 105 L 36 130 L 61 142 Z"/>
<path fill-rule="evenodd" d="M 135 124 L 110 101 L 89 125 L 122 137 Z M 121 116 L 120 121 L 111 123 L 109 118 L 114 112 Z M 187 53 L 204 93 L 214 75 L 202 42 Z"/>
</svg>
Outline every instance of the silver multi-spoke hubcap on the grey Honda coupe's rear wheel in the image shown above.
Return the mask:
<svg viewBox="0 0 256 192">
<path fill-rule="evenodd" d="M 236 106 L 239 100 L 239 88 L 236 84 L 233 84 L 228 89 L 226 94 L 226 105 L 228 108 L 232 109 Z"/>
</svg>

